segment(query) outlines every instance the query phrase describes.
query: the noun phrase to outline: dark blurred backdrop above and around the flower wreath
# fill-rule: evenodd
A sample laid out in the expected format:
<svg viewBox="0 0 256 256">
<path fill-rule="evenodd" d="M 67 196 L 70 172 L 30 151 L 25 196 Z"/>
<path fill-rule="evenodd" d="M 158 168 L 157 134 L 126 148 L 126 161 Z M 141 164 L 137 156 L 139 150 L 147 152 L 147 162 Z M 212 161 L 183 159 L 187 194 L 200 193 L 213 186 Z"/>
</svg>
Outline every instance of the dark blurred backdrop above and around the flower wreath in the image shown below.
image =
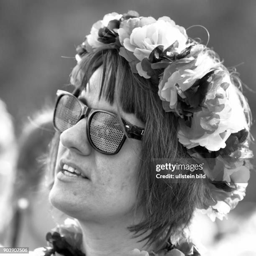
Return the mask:
<svg viewBox="0 0 256 256">
<path fill-rule="evenodd" d="M 67 89 L 76 64 L 75 48 L 92 24 L 106 13 L 128 10 L 154 18 L 166 15 L 184 28 L 205 26 L 210 33 L 208 47 L 224 59 L 225 66 L 240 73 L 256 137 L 255 0 L 0 0 L 0 98 L 13 117 L 17 137 L 28 117 L 54 102 L 57 89 Z M 190 28 L 187 33 L 206 44 L 203 28 Z M 255 143 L 251 148 L 256 155 Z M 255 183 L 253 172 L 243 201 L 250 209 L 256 203 Z"/>
</svg>

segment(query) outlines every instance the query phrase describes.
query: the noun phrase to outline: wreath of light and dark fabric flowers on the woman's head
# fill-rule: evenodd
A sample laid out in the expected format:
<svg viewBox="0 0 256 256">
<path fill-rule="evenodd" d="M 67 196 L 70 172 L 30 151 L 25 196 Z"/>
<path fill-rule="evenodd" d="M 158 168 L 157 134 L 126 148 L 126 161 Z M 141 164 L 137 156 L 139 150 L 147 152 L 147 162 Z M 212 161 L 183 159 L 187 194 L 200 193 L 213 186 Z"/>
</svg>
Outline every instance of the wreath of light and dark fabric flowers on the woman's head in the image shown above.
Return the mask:
<svg viewBox="0 0 256 256">
<path fill-rule="evenodd" d="M 245 196 L 253 154 L 247 101 L 215 52 L 169 17 L 155 20 L 135 11 L 109 13 L 94 23 L 77 47 L 77 62 L 99 49 L 118 49 L 133 73 L 158 85 L 164 110 L 179 116 L 179 142 L 204 163 L 212 200 L 202 212 L 222 219 Z"/>
</svg>

